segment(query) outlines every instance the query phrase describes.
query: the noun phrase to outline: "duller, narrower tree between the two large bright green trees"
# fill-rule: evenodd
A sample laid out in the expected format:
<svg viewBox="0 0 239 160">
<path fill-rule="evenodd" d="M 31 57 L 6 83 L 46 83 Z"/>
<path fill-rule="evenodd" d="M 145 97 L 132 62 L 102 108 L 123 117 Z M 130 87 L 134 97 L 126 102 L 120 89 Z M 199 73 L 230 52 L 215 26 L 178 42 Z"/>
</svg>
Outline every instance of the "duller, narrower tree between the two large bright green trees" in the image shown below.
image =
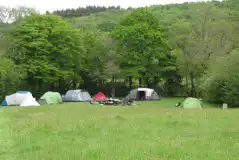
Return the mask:
<svg viewBox="0 0 239 160">
<path fill-rule="evenodd" d="M 108 33 L 92 29 L 84 30 L 84 68 L 80 74 L 84 79 L 83 88 L 92 92 L 102 90 L 107 83 L 107 88 L 112 96 L 115 95 L 115 84 L 119 76 L 119 59 L 114 49 L 114 41 Z"/>
</svg>

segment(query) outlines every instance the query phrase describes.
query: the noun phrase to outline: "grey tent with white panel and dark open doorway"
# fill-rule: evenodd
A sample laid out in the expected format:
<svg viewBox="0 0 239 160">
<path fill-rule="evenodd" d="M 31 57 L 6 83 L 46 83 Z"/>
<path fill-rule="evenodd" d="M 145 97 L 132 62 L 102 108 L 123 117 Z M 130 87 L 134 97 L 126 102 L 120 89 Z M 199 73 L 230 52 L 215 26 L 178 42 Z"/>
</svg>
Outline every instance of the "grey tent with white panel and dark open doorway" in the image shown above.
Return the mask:
<svg viewBox="0 0 239 160">
<path fill-rule="evenodd" d="M 157 92 L 151 88 L 136 88 L 129 92 L 128 99 L 133 100 L 159 100 Z"/>
</svg>

